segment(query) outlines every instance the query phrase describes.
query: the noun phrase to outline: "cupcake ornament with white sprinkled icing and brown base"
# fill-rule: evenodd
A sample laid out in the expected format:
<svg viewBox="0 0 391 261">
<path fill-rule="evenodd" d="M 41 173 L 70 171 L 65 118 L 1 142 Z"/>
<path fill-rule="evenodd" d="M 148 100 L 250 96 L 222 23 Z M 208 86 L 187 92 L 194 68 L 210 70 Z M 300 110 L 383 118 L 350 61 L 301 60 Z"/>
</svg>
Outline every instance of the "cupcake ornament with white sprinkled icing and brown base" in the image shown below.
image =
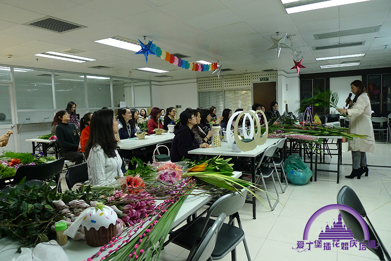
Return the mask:
<svg viewBox="0 0 391 261">
<path fill-rule="evenodd" d="M 81 224 L 86 233 L 87 244 L 103 246 L 116 236 L 117 218 L 112 208 L 98 203 L 85 209 L 64 234 L 72 237 L 75 228 L 77 230 Z"/>
</svg>

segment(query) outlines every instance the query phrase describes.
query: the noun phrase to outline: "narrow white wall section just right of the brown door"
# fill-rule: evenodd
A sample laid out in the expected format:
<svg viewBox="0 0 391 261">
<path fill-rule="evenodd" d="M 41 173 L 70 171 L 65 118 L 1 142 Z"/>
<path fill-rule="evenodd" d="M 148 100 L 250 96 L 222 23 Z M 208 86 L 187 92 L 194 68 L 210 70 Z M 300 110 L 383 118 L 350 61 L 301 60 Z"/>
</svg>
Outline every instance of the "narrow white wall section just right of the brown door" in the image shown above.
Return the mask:
<svg viewBox="0 0 391 261">
<path fill-rule="evenodd" d="M 297 115 L 300 108 L 300 78 L 297 73 L 278 71 L 277 102 L 281 114 L 285 111 L 285 104 L 287 104 L 289 112 Z"/>
</svg>

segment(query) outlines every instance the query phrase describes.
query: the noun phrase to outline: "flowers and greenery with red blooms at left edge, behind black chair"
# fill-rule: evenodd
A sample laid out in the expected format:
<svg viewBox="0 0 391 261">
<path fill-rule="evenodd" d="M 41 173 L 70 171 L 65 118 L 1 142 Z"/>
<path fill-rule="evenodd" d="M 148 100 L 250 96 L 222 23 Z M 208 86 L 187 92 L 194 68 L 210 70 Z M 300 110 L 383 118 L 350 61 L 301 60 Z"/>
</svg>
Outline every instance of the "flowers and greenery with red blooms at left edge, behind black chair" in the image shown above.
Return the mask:
<svg viewBox="0 0 391 261">
<path fill-rule="evenodd" d="M 15 176 L 16 170 L 23 165 L 40 165 L 54 159 L 54 157 L 43 156 L 43 152 L 33 154 L 6 151 L 0 156 L 0 178 Z"/>
</svg>

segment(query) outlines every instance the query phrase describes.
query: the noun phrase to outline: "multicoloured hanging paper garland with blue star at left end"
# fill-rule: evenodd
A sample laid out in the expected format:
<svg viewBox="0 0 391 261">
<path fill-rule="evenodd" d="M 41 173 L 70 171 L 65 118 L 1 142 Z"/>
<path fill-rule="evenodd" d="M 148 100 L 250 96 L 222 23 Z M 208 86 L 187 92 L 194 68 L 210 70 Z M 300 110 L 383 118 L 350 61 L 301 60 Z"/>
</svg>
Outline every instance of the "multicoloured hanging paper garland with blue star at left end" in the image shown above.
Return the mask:
<svg viewBox="0 0 391 261">
<path fill-rule="evenodd" d="M 140 40 L 138 40 L 140 42 Z M 140 42 L 141 43 L 141 42 Z M 217 67 L 217 62 L 210 64 L 210 65 L 204 65 L 204 64 L 198 64 L 198 63 L 190 63 L 189 61 L 182 60 L 181 58 L 178 58 L 174 56 L 173 54 L 166 52 L 159 46 L 156 46 L 156 44 L 152 43 L 152 41 L 149 41 L 148 44 L 143 44 L 144 49 L 143 51 L 139 51 L 135 54 L 143 53 L 145 59 L 148 59 L 148 53 L 149 54 L 155 54 L 157 57 L 160 57 L 162 60 L 165 60 L 166 62 L 170 62 L 170 64 L 176 65 L 178 67 L 181 67 L 183 69 L 191 69 L 192 71 L 214 71 Z"/>
</svg>

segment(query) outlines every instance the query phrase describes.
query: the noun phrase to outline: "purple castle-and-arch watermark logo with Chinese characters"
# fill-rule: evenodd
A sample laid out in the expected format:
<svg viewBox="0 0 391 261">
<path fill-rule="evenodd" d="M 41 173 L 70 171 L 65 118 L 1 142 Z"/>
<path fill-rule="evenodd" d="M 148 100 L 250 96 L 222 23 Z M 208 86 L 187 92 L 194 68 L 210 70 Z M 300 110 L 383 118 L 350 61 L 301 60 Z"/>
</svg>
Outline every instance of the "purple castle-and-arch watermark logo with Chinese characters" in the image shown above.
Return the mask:
<svg viewBox="0 0 391 261">
<path fill-rule="evenodd" d="M 341 213 L 338 215 L 338 221 L 333 223 L 331 227 L 326 225 L 326 228 L 319 233 L 318 239 L 313 241 L 308 240 L 309 229 L 314 222 L 314 220 L 321 215 L 322 213 L 328 210 L 344 210 L 360 223 L 363 232 L 364 232 L 364 240 L 358 241 L 353 238 L 353 233 L 349 229 L 349 227 L 342 220 Z M 369 231 L 367 227 L 367 223 L 364 218 L 360 216 L 354 209 L 340 204 L 332 204 L 327 205 L 323 208 L 317 210 L 311 218 L 309 218 L 307 224 L 304 228 L 303 240 L 297 241 L 296 247 L 292 247 L 292 249 L 298 252 L 306 252 L 311 251 L 312 249 L 323 249 L 323 250 L 331 250 L 331 248 L 340 248 L 341 250 L 349 250 L 349 248 L 358 248 L 359 250 L 367 250 L 368 248 L 377 249 L 379 244 L 376 244 L 375 240 L 369 240 Z"/>
</svg>

